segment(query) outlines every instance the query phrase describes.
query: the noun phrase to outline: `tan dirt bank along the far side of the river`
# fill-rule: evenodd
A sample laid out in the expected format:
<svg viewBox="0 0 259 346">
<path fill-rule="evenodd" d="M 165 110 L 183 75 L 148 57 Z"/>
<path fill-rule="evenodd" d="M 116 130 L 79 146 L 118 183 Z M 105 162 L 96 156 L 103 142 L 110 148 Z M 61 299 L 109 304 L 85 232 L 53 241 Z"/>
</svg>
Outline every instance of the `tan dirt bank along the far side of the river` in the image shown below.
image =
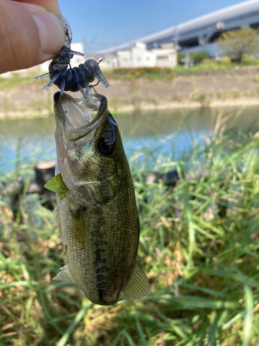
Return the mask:
<svg viewBox="0 0 259 346">
<path fill-rule="evenodd" d="M 174 80 L 109 80 L 97 91 L 106 95 L 111 111 L 177 109 L 259 105 L 259 75 L 247 69 L 240 73 L 180 76 Z M 46 81 L 0 90 L 0 118 L 48 116 L 52 113 L 52 86 L 40 92 Z M 80 93 L 73 93 L 81 97 Z"/>
</svg>

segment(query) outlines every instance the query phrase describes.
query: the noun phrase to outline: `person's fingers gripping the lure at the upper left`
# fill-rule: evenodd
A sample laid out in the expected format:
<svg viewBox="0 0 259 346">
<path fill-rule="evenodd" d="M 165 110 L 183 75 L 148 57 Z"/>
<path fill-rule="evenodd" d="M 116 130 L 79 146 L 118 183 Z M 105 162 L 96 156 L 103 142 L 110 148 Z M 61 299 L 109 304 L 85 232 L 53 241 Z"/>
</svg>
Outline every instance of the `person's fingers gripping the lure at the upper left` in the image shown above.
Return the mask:
<svg viewBox="0 0 259 346">
<path fill-rule="evenodd" d="M 66 34 L 57 0 L 0 0 L 0 73 L 52 59 Z"/>
</svg>

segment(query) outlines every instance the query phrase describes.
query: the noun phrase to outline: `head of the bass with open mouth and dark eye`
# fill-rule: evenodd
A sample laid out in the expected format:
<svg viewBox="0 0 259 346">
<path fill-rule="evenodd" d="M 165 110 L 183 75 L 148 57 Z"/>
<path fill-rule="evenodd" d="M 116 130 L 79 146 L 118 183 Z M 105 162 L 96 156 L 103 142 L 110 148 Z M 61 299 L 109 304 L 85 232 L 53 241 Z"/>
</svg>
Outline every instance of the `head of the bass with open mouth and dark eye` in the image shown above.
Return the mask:
<svg viewBox="0 0 259 346">
<path fill-rule="evenodd" d="M 54 110 L 56 174 L 60 173 L 68 190 L 73 190 L 86 183 L 86 171 L 93 170 L 93 165 L 97 165 L 94 161 L 98 161 L 99 157 L 102 162 L 104 157 L 111 158 L 117 143 L 117 123 L 108 111 L 106 97 L 95 90 L 91 90 L 88 98 L 81 99 L 57 92 L 54 95 Z M 101 178 L 99 176 L 97 181 L 104 180 Z M 93 176 L 88 183 L 92 179 Z"/>
</svg>

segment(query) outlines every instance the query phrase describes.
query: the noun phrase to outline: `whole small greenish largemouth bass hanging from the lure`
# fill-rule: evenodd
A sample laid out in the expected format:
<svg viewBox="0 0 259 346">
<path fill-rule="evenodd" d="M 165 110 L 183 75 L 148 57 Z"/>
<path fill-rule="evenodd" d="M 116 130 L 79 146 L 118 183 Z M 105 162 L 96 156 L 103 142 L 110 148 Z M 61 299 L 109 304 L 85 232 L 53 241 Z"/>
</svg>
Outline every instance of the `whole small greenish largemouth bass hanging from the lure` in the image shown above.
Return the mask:
<svg viewBox="0 0 259 346">
<path fill-rule="evenodd" d="M 140 221 L 130 168 L 104 96 L 55 93 L 57 227 L 66 266 L 54 280 L 73 282 L 95 304 L 140 299 L 149 291 L 137 260 Z M 92 111 L 97 115 L 91 120 Z M 59 184 L 60 185 L 60 184 Z M 59 186 L 60 188 L 60 186 Z"/>
</svg>

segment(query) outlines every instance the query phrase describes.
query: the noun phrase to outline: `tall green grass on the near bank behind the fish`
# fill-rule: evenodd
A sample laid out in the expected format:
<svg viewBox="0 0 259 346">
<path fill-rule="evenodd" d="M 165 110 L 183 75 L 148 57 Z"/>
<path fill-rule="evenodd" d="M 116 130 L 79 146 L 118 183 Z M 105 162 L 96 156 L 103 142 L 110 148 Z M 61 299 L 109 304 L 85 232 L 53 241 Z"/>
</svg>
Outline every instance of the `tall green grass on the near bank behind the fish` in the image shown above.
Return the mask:
<svg viewBox="0 0 259 346">
<path fill-rule="evenodd" d="M 2 194 L 0 345 L 258 346 L 259 136 L 223 126 L 219 121 L 211 142 L 194 144 L 181 159 L 154 159 L 142 148 L 145 160 L 130 160 L 140 208 L 138 255 L 151 284 L 139 301 L 100 307 L 75 286 L 52 281 L 63 265 L 52 213 L 24 191 L 13 221 Z M 182 179 L 175 188 L 146 185 L 142 172 L 151 163 Z M 202 167 L 207 174 L 184 179 L 190 163 L 191 172 Z M 32 174 L 30 167 L 17 172 Z"/>
</svg>

